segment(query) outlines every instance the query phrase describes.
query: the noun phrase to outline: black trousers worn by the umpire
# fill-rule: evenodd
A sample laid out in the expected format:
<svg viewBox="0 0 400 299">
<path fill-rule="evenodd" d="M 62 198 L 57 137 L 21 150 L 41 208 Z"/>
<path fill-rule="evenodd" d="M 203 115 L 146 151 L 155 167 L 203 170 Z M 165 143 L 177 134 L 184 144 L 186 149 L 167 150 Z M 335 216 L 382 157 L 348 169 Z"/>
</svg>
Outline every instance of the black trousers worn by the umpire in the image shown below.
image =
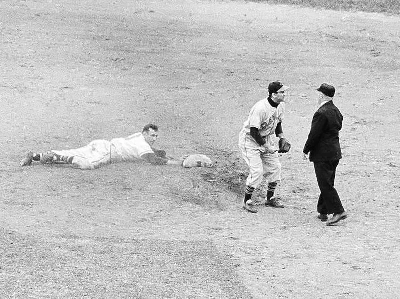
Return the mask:
<svg viewBox="0 0 400 299">
<path fill-rule="evenodd" d="M 344 212 L 340 197 L 334 188 L 334 178 L 339 160 L 314 162 L 316 180 L 321 194 L 318 199 L 318 213 L 335 214 Z"/>
</svg>

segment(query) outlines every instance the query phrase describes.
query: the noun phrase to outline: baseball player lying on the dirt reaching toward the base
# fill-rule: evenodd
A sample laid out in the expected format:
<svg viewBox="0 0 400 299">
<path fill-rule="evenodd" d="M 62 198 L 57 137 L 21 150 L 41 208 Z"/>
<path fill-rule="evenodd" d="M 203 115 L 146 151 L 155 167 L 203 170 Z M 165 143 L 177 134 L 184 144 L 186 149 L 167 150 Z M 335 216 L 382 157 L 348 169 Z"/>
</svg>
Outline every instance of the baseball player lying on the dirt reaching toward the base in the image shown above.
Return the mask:
<svg viewBox="0 0 400 299">
<path fill-rule="evenodd" d="M 163 150 L 153 149 L 157 139 L 158 127 L 154 124 L 144 126 L 142 132 L 126 138 L 111 141 L 94 140 L 84 147 L 69 150 L 52 150 L 46 153 L 29 151 L 20 162 L 21 166 L 31 165 L 33 161 L 41 163 L 65 163 L 74 168 L 94 169 L 102 164 L 115 161 L 133 161 L 143 159 L 152 165 L 182 165 L 185 157 L 173 159 Z"/>
</svg>

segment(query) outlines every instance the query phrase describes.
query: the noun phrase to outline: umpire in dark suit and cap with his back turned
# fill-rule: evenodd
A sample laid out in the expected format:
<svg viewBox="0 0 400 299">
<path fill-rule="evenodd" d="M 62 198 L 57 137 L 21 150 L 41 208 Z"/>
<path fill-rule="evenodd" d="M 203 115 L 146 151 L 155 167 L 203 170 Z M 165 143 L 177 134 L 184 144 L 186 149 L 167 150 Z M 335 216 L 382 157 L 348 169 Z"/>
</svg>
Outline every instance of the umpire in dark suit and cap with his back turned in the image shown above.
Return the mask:
<svg viewBox="0 0 400 299">
<path fill-rule="evenodd" d="M 309 160 L 314 162 L 316 180 L 321 194 L 318 200 L 318 219 L 327 221 L 329 214 L 333 217 L 326 225 L 333 225 L 347 217 L 341 204 L 340 197 L 334 188 L 336 167 L 341 159 L 339 131 L 343 115 L 333 104 L 335 88 L 323 83 L 320 92 L 319 109 L 312 118 L 311 130 L 304 145 L 303 152 L 309 154 Z"/>
</svg>

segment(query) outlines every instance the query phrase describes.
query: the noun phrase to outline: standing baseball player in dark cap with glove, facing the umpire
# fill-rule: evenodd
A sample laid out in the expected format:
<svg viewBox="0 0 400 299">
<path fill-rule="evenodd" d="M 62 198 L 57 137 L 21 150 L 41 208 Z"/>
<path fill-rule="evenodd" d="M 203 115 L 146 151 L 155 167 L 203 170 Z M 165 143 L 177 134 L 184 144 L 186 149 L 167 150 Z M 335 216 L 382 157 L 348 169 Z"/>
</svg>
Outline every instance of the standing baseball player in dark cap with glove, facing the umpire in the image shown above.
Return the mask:
<svg viewBox="0 0 400 299">
<path fill-rule="evenodd" d="M 275 148 L 274 134 L 279 137 L 279 153 L 290 150 L 290 144 L 284 137 L 282 120 L 285 112 L 285 90 L 289 87 L 280 82 L 268 86 L 269 96 L 258 101 L 250 110 L 248 119 L 243 123 L 239 134 L 241 154 L 250 167 L 246 180 L 244 208 L 257 212 L 251 199 L 252 193 L 263 178 L 268 181 L 265 205 L 283 207 L 278 198 L 273 197 L 276 186 L 281 180 L 281 165 Z"/>
</svg>

